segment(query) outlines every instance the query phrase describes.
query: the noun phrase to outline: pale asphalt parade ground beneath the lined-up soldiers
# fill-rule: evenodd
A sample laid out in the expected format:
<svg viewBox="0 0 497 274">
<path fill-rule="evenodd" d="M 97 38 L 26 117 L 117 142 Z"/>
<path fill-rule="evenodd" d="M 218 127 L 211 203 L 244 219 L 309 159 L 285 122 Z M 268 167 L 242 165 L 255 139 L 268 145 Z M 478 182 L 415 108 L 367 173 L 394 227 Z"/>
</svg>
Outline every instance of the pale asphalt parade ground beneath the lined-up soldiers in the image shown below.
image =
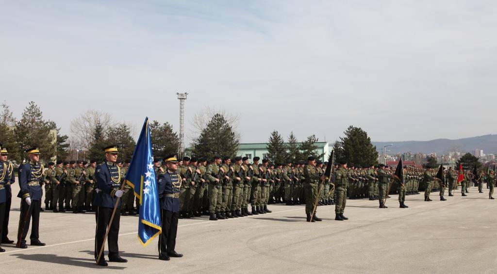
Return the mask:
<svg viewBox="0 0 497 274">
<path fill-rule="evenodd" d="M 17 194 L 18 186 L 13 185 Z M 447 191 L 446 191 L 447 193 Z M 209 221 L 180 219 L 176 251 L 158 260 L 158 240 L 143 247 L 138 217 L 122 216 L 121 257 L 126 264 L 95 265 L 93 213 L 41 212 L 44 247 L 2 244 L 1 273 L 497 273 L 497 200 L 470 188 L 467 197 L 432 202 L 423 194 L 378 201 L 347 200 L 345 221 L 334 206 L 319 206 L 321 222 L 309 223 L 304 206 L 270 205 L 272 213 Z M 20 199 L 14 197 L 9 238 L 16 238 Z"/>
</svg>

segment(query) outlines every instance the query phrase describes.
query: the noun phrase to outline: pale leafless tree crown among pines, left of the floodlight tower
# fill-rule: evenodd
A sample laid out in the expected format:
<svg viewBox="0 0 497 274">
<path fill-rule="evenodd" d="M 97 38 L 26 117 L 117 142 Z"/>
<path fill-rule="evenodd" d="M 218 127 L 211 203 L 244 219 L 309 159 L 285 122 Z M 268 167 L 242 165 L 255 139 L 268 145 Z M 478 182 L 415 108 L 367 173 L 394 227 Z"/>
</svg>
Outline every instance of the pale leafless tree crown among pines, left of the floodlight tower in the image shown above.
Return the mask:
<svg viewBox="0 0 497 274">
<path fill-rule="evenodd" d="M 114 121 L 109 113 L 93 109 L 87 110 L 71 121 L 71 146 L 89 150 L 97 124 L 100 124 L 106 132 L 109 128 L 115 127 L 118 122 Z"/>
</svg>

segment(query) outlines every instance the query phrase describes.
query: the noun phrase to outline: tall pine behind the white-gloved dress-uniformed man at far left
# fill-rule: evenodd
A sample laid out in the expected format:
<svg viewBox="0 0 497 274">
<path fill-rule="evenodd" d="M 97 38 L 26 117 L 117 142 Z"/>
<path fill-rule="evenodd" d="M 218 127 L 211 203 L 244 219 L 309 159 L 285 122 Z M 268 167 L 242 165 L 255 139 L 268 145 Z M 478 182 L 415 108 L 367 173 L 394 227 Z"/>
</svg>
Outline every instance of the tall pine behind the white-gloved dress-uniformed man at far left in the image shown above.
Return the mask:
<svg viewBox="0 0 497 274">
<path fill-rule="evenodd" d="M 57 154 L 57 144 L 54 142 L 57 136 L 50 132 L 50 130 L 56 130 L 51 128 L 53 125 L 50 121 L 43 120 L 43 113 L 35 102 L 29 102 L 14 129 L 18 151 L 23 152 L 25 149 L 36 146 L 40 148 L 41 161 L 45 163 L 50 161 Z M 25 158 L 24 153 L 21 155 Z"/>
</svg>

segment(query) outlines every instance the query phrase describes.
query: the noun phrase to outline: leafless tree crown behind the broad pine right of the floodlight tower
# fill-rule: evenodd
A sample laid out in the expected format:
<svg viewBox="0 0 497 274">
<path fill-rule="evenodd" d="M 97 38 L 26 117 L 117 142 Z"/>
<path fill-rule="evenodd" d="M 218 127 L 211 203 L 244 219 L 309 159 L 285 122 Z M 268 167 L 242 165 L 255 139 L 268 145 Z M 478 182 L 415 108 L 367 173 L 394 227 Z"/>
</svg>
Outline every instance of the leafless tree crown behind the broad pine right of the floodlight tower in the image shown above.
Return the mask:
<svg viewBox="0 0 497 274">
<path fill-rule="evenodd" d="M 240 121 L 240 115 L 234 113 L 228 113 L 225 109 L 220 107 L 210 107 L 205 106 L 203 109 L 197 111 L 193 118 L 191 119 L 191 135 L 188 137 L 190 139 L 196 139 L 200 133 L 205 129 L 207 124 L 212 120 L 214 115 L 220 114 L 224 117 L 227 124 L 232 127 L 233 132 L 235 133 L 235 138 L 240 139 L 240 132 L 238 131 L 238 123 Z M 193 145 L 193 143 L 192 143 Z"/>
</svg>

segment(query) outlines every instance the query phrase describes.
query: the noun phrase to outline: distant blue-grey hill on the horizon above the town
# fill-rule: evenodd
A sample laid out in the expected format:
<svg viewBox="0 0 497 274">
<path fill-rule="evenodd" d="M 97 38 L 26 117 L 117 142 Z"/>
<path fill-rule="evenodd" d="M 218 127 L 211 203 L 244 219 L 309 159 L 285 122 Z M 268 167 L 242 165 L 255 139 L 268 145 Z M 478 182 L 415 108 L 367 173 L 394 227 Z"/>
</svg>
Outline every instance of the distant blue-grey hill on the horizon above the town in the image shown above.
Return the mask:
<svg viewBox="0 0 497 274">
<path fill-rule="evenodd" d="M 485 154 L 497 154 L 497 135 L 484 135 L 456 140 L 434 139 L 430 141 L 400 141 L 400 142 L 372 142 L 376 145 L 378 152 L 381 152 L 384 145 L 389 146 L 388 154 L 411 151 L 413 153 L 431 153 L 443 154 L 451 150 L 474 152 L 475 149 L 483 149 Z"/>
</svg>

